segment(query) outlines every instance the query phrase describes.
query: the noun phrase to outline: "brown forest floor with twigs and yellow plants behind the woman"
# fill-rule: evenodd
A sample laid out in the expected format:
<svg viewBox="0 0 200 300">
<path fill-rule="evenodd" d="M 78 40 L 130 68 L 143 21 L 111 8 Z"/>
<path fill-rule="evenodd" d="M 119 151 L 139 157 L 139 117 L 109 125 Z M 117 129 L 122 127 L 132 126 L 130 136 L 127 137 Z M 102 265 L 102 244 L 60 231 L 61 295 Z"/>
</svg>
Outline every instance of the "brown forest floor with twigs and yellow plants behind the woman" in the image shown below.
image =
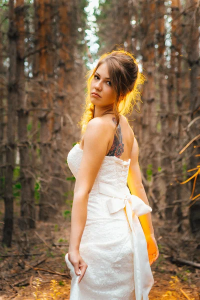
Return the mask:
<svg viewBox="0 0 200 300">
<path fill-rule="evenodd" d="M 151 265 L 154 285 L 149 300 L 199 300 L 199 241 L 189 230 L 177 233 L 171 229 L 171 223 L 166 225 L 154 215 L 152 221 L 159 257 Z M 70 275 L 64 261 L 69 219 L 60 213 L 52 222 L 37 221 L 36 229 L 26 231 L 20 230 L 16 222 L 17 213 L 12 247 L 0 246 L 0 300 L 69 299 Z M 177 258 L 196 262 L 198 266 L 178 262 Z"/>
</svg>

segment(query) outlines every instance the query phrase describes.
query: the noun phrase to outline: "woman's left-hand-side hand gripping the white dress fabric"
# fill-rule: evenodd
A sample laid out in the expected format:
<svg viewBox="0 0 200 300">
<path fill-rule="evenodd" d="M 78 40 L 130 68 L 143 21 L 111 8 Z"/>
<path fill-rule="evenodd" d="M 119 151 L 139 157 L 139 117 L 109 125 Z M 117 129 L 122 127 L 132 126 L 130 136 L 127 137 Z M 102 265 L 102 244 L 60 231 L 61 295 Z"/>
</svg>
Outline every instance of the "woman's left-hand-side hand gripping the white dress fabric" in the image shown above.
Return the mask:
<svg viewBox="0 0 200 300">
<path fill-rule="evenodd" d="M 75 274 L 80 275 L 80 277 L 78 279 L 78 283 L 79 283 L 87 269 L 87 264 L 84 262 L 84 260 L 80 256 L 79 251 L 68 252 L 68 260 L 73 265 Z M 81 274 L 79 273 L 79 269 L 81 271 Z"/>
</svg>

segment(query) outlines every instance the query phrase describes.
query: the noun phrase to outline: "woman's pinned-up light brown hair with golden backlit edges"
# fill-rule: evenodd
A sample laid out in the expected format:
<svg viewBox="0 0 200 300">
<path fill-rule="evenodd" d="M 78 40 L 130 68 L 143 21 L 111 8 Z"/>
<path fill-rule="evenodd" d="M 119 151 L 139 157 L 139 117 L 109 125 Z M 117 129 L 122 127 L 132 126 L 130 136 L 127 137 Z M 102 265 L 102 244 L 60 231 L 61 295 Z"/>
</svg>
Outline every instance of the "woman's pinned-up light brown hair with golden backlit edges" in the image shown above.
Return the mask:
<svg viewBox="0 0 200 300">
<path fill-rule="evenodd" d="M 94 117 L 95 105 L 90 100 L 90 85 L 96 69 L 102 63 L 106 62 L 108 67 L 109 78 L 116 99 L 113 105 L 113 111 L 116 118 L 116 128 L 119 123 L 119 113 L 122 115 L 131 113 L 133 106 L 140 101 L 141 93 L 138 89 L 140 84 L 145 81 L 144 75 L 139 71 L 138 63 L 130 52 L 112 50 L 100 56 L 97 65 L 89 70 L 85 77 L 87 78 L 84 112 L 78 124 L 81 127 L 81 136 L 86 130 L 89 120 Z M 103 114 L 109 112 L 105 111 Z M 102 114 L 102 115 L 103 115 Z"/>
</svg>

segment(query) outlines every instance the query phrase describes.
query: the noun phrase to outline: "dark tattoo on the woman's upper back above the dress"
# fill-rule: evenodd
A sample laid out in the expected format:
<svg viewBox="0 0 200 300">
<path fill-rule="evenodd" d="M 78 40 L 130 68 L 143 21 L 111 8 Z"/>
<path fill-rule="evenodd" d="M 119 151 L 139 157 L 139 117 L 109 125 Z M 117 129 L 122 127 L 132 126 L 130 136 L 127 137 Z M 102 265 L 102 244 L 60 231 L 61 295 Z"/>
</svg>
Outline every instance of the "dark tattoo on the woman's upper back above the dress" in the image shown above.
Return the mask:
<svg viewBox="0 0 200 300">
<path fill-rule="evenodd" d="M 116 124 L 115 117 L 112 117 L 112 121 Z M 111 145 L 108 153 L 106 154 L 106 156 L 116 156 L 119 158 L 121 156 L 121 154 L 123 153 L 123 146 L 124 146 L 124 144 L 122 143 L 122 133 L 121 133 L 120 124 L 118 124 L 116 131 L 118 133 L 118 138 L 117 138 L 116 134 L 114 133 L 114 139 L 113 139 L 112 145 Z"/>
</svg>

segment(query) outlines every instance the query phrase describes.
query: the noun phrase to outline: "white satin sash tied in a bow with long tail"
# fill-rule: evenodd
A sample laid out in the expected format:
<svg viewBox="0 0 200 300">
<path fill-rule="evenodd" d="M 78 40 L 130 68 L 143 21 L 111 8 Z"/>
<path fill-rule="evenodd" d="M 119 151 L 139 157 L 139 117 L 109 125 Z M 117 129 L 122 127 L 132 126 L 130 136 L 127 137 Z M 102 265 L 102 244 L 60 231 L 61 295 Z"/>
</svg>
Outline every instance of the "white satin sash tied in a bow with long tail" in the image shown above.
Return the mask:
<svg viewBox="0 0 200 300">
<path fill-rule="evenodd" d="M 138 216 L 152 211 L 152 208 L 136 195 L 131 195 L 127 186 L 120 190 L 111 184 L 98 181 L 96 188 L 99 193 L 110 196 L 106 202 L 110 213 L 115 213 L 125 207 L 133 237 L 135 299 L 148 300 L 154 279 L 148 259 L 145 235 Z"/>
</svg>

